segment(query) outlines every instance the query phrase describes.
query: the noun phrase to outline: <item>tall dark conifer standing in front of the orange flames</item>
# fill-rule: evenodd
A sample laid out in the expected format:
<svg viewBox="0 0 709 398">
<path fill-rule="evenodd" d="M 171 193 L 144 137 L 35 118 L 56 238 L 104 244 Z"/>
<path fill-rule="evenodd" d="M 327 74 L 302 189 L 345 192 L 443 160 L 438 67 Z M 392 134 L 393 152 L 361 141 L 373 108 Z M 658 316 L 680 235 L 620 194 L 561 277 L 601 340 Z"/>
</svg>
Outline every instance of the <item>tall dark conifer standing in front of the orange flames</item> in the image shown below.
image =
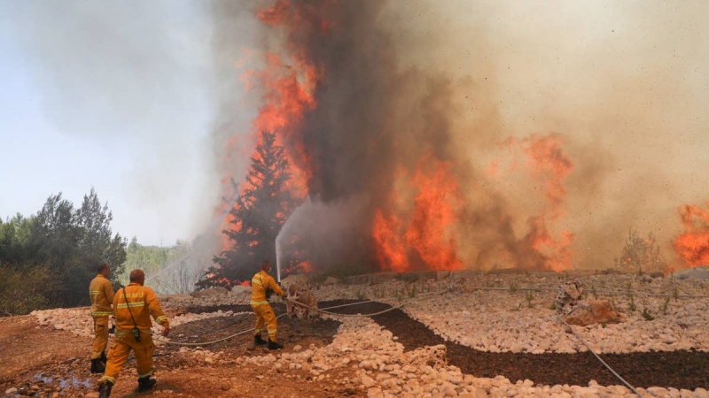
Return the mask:
<svg viewBox="0 0 709 398">
<path fill-rule="evenodd" d="M 296 202 L 287 187 L 288 170 L 276 134 L 261 132 L 248 175 L 229 211 L 230 228 L 222 231 L 230 247 L 214 256 L 215 265 L 198 287 L 231 287 L 250 278 L 262 261 L 276 263 L 276 237 Z"/>
</svg>

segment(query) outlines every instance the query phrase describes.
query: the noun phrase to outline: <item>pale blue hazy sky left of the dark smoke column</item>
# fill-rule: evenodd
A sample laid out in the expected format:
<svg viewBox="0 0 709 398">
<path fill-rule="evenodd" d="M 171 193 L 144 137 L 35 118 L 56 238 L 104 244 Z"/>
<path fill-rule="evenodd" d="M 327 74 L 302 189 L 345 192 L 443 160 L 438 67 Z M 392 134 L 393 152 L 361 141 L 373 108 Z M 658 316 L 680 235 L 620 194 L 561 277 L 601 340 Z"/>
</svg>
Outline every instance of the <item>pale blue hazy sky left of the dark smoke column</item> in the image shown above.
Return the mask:
<svg viewBox="0 0 709 398">
<path fill-rule="evenodd" d="M 95 188 L 113 232 L 190 240 L 218 201 L 197 2 L 0 2 L 0 217 Z"/>
</svg>

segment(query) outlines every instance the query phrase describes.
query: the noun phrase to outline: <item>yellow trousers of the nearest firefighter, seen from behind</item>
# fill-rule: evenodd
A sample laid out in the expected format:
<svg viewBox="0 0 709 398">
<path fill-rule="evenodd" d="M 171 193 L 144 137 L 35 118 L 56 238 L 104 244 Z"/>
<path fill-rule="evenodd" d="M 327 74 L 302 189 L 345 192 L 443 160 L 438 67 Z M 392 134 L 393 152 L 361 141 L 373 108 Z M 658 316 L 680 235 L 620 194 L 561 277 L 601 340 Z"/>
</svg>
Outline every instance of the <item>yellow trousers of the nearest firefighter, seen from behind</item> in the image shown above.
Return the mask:
<svg viewBox="0 0 709 398">
<path fill-rule="evenodd" d="M 155 349 L 152 336 L 148 333 L 140 333 L 140 342 L 137 342 L 129 332 L 113 338 L 111 349 L 108 351 L 108 364 L 105 365 L 105 373 L 99 383 L 109 381 L 115 384 L 131 349 L 136 353 L 138 378 L 152 375 L 152 351 Z"/>
</svg>

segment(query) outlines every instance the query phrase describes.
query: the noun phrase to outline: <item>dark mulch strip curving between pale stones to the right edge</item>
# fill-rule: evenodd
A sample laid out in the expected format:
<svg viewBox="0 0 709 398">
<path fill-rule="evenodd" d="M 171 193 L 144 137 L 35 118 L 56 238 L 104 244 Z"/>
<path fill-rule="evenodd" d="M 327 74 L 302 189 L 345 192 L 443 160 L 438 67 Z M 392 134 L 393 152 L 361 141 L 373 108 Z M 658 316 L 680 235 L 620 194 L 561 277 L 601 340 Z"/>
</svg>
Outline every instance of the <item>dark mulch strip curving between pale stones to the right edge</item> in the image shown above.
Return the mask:
<svg viewBox="0 0 709 398">
<path fill-rule="evenodd" d="M 329 307 L 356 300 L 320 302 Z M 342 314 L 370 314 L 391 308 L 382 302 L 363 302 L 331 311 Z M 602 386 L 622 385 L 590 352 L 580 354 L 490 353 L 445 341 L 424 324 L 402 310 L 391 310 L 372 317 L 399 338 L 407 351 L 438 344 L 447 348 L 448 364 L 464 373 L 493 378 L 503 375 L 512 382 L 530 379 L 538 385 L 568 384 L 588 386 L 596 380 Z M 675 387 L 694 390 L 709 387 L 709 353 L 669 351 L 633 354 L 604 354 L 605 363 L 634 387 Z"/>
</svg>

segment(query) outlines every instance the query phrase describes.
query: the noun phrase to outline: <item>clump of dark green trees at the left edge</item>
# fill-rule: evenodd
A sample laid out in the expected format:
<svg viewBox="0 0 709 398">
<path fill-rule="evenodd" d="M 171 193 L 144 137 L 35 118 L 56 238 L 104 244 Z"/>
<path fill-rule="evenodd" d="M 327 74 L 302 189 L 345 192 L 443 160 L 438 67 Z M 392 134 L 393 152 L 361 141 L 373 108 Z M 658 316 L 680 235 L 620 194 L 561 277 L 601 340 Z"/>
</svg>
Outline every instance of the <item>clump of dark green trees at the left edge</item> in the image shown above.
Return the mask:
<svg viewBox="0 0 709 398">
<path fill-rule="evenodd" d="M 34 215 L 0 219 L 0 314 L 88 305 L 98 264 L 118 275 L 126 260 L 126 240 L 113 233 L 112 220 L 93 188 L 81 207 L 58 193 Z"/>
</svg>

